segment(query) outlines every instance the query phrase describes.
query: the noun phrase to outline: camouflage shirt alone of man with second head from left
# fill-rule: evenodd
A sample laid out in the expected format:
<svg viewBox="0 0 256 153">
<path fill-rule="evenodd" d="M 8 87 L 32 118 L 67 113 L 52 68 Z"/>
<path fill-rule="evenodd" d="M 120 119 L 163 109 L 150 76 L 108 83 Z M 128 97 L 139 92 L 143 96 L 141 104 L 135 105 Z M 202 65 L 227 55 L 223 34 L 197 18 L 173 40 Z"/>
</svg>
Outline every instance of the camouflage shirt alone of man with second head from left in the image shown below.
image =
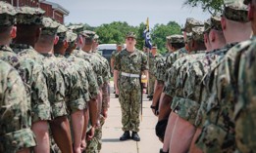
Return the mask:
<svg viewBox="0 0 256 153">
<path fill-rule="evenodd" d="M 56 57 L 51 54 L 38 54 L 33 48 L 27 45 L 15 44 L 13 46 L 14 51 L 22 51 L 18 54 L 19 57 L 32 58 L 42 65 L 43 73 L 46 77 L 48 100 L 51 104 L 52 119 L 67 115 L 65 84 L 56 63 Z"/>
</svg>

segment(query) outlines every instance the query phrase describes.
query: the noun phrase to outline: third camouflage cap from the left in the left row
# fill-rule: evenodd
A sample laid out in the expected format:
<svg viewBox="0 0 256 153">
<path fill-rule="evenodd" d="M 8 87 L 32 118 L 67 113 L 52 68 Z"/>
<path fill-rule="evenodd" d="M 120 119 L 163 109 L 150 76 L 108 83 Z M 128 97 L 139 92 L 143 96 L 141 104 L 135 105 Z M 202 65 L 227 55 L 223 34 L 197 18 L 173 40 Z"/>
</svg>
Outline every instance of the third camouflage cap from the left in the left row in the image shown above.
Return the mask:
<svg viewBox="0 0 256 153">
<path fill-rule="evenodd" d="M 42 35 L 55 35 L 57 33 L 57 29 L 59 27 L 59 23 L 51 18 L 44 17 L 42 19 Z"/>
</svg>

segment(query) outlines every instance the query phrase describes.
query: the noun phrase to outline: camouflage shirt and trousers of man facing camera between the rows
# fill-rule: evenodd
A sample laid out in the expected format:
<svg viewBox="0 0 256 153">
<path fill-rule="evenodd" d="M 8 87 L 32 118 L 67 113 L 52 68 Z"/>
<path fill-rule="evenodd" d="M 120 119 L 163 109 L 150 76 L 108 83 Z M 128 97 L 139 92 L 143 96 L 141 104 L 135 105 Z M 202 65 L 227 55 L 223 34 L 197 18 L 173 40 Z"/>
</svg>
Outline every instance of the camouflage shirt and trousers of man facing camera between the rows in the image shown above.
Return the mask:
<svg viewBox="0 0 256 153">
<path fill-rule="evenodd" d="M 116 57 L 115 70 L 120 73 L 141 74 L 147 70 L 147 57 L 141 51 L 135 50 L 128 53 L 125 49 Z M 139 78 L 120 76 L 119 79 L 119 100 L 122 109 L 123 131 L 138 132 L 139 111 L 141 104 L 141 86 Z"/>
</svg>

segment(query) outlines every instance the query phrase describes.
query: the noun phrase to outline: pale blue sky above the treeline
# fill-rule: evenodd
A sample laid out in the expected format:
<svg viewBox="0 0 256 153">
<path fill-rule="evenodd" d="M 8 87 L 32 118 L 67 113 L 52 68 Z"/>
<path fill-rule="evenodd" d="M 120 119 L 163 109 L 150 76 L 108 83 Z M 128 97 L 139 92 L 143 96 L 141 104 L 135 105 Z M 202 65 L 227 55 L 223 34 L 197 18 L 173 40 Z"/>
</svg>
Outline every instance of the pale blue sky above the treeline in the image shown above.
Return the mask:
<svg viewBox="0 0 256 153">
<path fill-rule="evenodd" d="M 70 11 L 65 22 L 88 23 L 99 26 L 112 21 L 127 21 L 139 25 L 149 18 L 150 27 L 170 20 L 184 24 L 190 17 L 199 20 L 210 18 L 201 8 L 183 6 L 184 0 L 48 0 L 58 3 Z"/>
</svg>

